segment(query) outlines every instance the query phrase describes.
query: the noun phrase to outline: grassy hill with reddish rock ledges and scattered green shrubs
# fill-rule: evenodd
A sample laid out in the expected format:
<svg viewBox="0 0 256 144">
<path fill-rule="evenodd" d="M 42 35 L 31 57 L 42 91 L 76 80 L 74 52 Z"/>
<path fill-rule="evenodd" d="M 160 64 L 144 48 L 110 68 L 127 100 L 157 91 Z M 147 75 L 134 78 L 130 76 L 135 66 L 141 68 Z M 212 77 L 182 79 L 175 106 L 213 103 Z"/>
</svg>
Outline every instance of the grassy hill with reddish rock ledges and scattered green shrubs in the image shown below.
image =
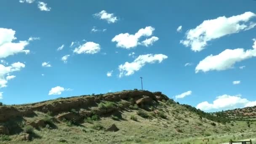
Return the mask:
<svg viewBox="0 0 256 144">
<path fill-rule="evenodd" d="M 0 106 L 8 144 L 220 143 L 256 137 L 250 124 L 138 90 Z"/>
</svg>

